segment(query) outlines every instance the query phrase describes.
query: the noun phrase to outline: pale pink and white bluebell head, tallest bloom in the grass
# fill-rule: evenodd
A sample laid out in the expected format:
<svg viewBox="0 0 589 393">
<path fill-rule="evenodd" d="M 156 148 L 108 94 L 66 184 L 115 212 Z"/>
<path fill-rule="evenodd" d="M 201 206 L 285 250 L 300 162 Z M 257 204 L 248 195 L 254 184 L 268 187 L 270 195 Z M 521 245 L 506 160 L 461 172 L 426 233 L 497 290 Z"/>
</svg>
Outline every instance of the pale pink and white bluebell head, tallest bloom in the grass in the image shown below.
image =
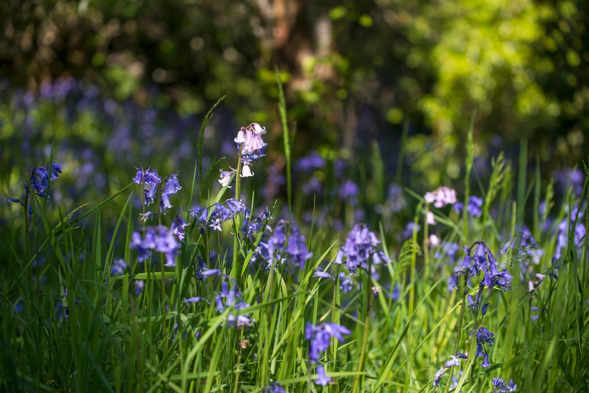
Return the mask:
<svg viewBox="0 0 589 393">
<path fill-rule="evenodd" d="M 237 144 L 237 151 L 240 153 L 241 161 L 241 177 L 253 176 L 254 173 L 250 166 L 252 163 L 258 160 L 258 158 L 266 156 L 264 154 L 264 148 L 266 143 L 262 140 L 262 135 L 266 134 L 266 127 L 260 126 L 260 124 L 252 123 L 247 127 L 241 127 L 241 130 L 237 132 L 237 137 L 233 140 Z M 236 173 L 236 169 L 229 167 L 230 171 L 224 171 L 221 169 L 219 175 L 219 183 L 221 186 L 231 187 L 231 176 Z"/>
</svg>

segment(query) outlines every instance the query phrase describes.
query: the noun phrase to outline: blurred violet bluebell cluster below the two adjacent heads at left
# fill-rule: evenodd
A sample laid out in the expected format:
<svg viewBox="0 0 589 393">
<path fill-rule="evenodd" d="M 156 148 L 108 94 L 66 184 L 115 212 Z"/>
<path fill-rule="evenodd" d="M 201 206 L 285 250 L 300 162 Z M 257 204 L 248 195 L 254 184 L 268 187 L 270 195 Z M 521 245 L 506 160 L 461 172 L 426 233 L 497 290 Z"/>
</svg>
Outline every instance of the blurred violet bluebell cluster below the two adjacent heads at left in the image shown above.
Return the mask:
<svg viewBox="0 0 589 393">
<path fill-rule="evenodd" d="M 155 250 L 166 255 L 166 266 L 175 266 L 180 243 L 167 227 L 158 225 L 146 227 L 143 239 L 139 232 L 134 232 L 131 235 L 130 247 L 137 252 L 139 262 L 148 259 L 151 256 L 151 250 Z"/>
</svg>

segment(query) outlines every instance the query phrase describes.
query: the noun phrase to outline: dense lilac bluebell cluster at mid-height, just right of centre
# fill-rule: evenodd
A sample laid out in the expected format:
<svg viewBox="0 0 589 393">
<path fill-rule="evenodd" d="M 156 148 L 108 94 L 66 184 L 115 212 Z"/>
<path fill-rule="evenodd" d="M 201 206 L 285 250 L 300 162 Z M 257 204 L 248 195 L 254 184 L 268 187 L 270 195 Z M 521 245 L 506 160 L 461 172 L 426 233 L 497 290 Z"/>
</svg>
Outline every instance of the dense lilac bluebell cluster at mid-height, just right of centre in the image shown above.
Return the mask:
<svg viewBox="0 0 589 393">
<path fill-rule="evenodd" d="M 369 230 L 365 224 L 356 224 L 348 233 L 346 243 L 337 252 L 333 263 L 336 265 L 345 263 L 350 273 L 355 274 L 359 267 L 368 268 L 368 259 L 375 254 L 378 254 L 379 260 L 384 260 L 386 263 L 391 262 L 384 252 L 377 252 L 374 249 L 379 243 L 380 240 L 376 238 L 375 233 Z"/>
</svg>

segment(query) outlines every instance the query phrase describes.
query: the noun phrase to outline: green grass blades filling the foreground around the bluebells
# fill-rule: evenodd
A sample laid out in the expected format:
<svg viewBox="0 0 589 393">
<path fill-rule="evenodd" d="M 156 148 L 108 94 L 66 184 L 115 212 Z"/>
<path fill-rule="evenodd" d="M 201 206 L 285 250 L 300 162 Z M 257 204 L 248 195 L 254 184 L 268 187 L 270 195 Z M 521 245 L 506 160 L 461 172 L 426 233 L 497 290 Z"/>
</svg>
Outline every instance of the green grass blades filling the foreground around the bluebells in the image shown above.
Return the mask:
<svg viewBox="0 0 589 393">
<path fill-rule="evenodd" d="M 277 206 L 292 206 L 286 211 L 297 212 L 302 208 L 293 206 L 300 199 L 293 199 L 290 192 L 291 145 L 282 95 L 280 114 L 288 192 L 287 203 L 278 202 Z M 230 195 L 223 187 L 214 197 L 212 190 L 208 191 L 210 196 L 206 197 L 207 190 L 200 186 L 208 174 L 203 173 L 202 166 L 203 134 L 204 126 L 193 184 L 184 187 L 190 193 L 183 195 L 186 200 L 198 197 L 201 202 L 207 199 L 214 203 Z M 472 127 L 468 135 L 465 204 L 471 192 L 468 174 L 474 170 Z M 587 247 L 584 241 L 575 245 L 571 239 L 577 222 L 585 220 L 585 228 L 589 226 L 589 214 L 567 213 L 570 206 L 583 202 L 569 190 L 550 213 L 541 216 L 541 196 L 548 206 L 554 200 L 552 183 L 540 184 L 538 166 L 532 183 L 527 183 L 527 144 L 522 142 L 521 147 L 517 183 L 510 173 L 511 163 L 502 156 L 494 160 L 489 184 L 482 193 L 485 198 L 479 218 L 457 214 L 449 207 L 426 206 L 419 194 L 406 189 L 409 206 L 415 209 L 402 214 L 414 217 L 422 230 L 415 229 L 412 239 L 399 242 L 402 227 L 380 222 L 370 228 L 379 234 L 379 249 L 393 262 L 378 266 L 378 276 L 360 270 L 353 276 L 355 287 L 350 293 L 343 293 L 339 287 L 339 272 L 346 271 L 344 266 L 329 267 L 335 281 L 313 277 L 317 266 L 327 269 L 345 242 L 345 232 L 336 232 L 326 224 L 314 223 L 312 232 L 303 229 L 313 252 L 303 269 L 292 269 L 288 263 L 262 269 L 262 263 L 252 262 L 253 250 L 266 240 L 261 234 L 253 240 L 234 236 L 243 217 L 221 233 L 204 226 L 201 234 L 193 222 L 176 266 L 164 267 L 164 257 L 159 253 L 146 263 L 138 263 L 129 247 L 131 233 L 141 231 L 143 226 L 138 220 L 143 207 L 133 203 L 140 197 L 139 186 L 134 184 L 78 208 L 45 204 L 46 200 L 32 197 L 34 214 L 29 227 L 22 207 L 2 208 L 8 230 L 2 233 L 0 242 L 9 252 L 4 255 L 0 279 L 0 387 L 7 392 L 260 392 L 269 382 L 278 381 L 289 392 L 431 392 L 436 371 L 458 348 L 469 355 L 468 360 L 446 372 L 439 391 L 453 391 L 451 372 L 458 375 L 459 371 L 463 374 L 458 386 L 463 392 L 491 392 L 493 377 L 514 379 L 521 392 L 588 391 Z M 376 143 L 373 149 L 380 151 Z M 379 154 L 373 154 L 370 164 L 377 176 L 368 181 L 376 182 L 370 184 L 378 190 L 375 201 L 381 202 L 385 175 Z M 201 180 L 199 191 L 193 195 L 197 179 Z M 241 187 L 241 195 L 257 191 L 252 179 L 241 179 Z M 51 183 L 52 190 L 58 188 L 59 180 Z M 586 209 L 586 204 L 583 206 Z M 279 211 L 278 207 L 273 209 L 275 218 L 267 222 L 270 226 L 276 224 Z M 461 246 L 456 262 L 450 262 L 447 256 L 436 257 L 441 247 L 431 247 L 424 241 L 427 211 L 435 214 L 438 235 Z M 558 218 L 545 229 L 549 214 Z M 114 226 L 111 220 L 103 220 L 105 215 L 116 217 Z M 524 265 L 529 255 L 499 252 L 528 217 L 530 232 L 544 250 L 538 264 L 530 266 Z M 169 225 L 170 218 L 163 217 L 162 222 Z M 302 223 L 296 216 L 293 219 Z M 548 275 L 554 271 L 554 229 L 563 220 L 568 223 L 570 239 L 557 261 L 561 266 L 558 279 L 547 276 L 530 292 L 527 281 L 532 273 Z M 485 289 L 484 298 L 491 308 L 482 319 L 475 319 L 471 309 L 465 308 L 464 280 L 460 280 L 459 290 L 447 286 L 447 278 L 464 257 L 462 246 L 476 240 L 485 240 L 514 277 L 510 292 Z M 227 317 L 235 311 L 231 307 L 223 312 L 215 308 L 214 295 L 222 279 L 211 276 L 197 282 L 194 278 L 191 262 L 198 256 L 208 262 L 212 251 L 218 257 L 209 267 L 221 269 L 239 284 L 249 306 L 238 313 L 250 315 L 252 326 L 226 326 Z M 40 256 L 45 263 L 35 266 Z M 111 277 L 110 268 L 117 257 L 123 257 L 129 269 L 122 276 Z M 524 272 L 527 279 L 522 280 L 524 269 L 528 269 Z M 479 279 L 471 281 L 471 293 L 476 292 Z M 143 292 L 135 293 L 135 280 L 145 280 Z M 373 286 L 382 288 L 376 298 Z M 400 295 L 393 300 L 395 286 Z M 184 299 L 193 296 L 209 302 L 186 305 Z M 69 308 L 68 319 L 58 318 L 58 304 Z M 16 311 L 17 305 L 22 306 L 21 311 Z M 532 315 L 538 318 L 534 320 Z M 317 374 L 309 361 L 307 322 L 340 323 L 352 332 L 345 336 L 344 343 L 332 345 L 321 359 L 334 381 L 326 387 L 313 383 Z M 490 368 L 481 368 L 481 358 L 472 356 L 475 326 L 495 333 L 496 341 L 489 351 Z"/>
</svg>

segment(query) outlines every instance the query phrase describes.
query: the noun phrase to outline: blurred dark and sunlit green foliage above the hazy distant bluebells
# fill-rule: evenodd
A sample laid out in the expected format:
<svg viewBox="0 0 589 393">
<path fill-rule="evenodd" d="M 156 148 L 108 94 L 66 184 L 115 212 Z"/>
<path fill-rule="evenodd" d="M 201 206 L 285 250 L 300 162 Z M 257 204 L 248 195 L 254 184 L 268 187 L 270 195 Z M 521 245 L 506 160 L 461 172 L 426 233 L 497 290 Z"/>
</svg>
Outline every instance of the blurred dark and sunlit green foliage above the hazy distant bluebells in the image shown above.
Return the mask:
<svg viewBox="0 0 589 393">
<path fill-rule="evenodd" d="M 15 84 L 71 75 L 138 104 L 156 84 L 182 114 L 227 94 L 238 123 L 274 124 L 274 140 L 278 65 L 295 154 L 395 145 L 409 120 L 411 169 L 458 179 L 475 109 L 483 157 L 522 137 L 545 165 L 588 153 L 588 2 L 7 0 L 0 15 Z"/>
</svg>

